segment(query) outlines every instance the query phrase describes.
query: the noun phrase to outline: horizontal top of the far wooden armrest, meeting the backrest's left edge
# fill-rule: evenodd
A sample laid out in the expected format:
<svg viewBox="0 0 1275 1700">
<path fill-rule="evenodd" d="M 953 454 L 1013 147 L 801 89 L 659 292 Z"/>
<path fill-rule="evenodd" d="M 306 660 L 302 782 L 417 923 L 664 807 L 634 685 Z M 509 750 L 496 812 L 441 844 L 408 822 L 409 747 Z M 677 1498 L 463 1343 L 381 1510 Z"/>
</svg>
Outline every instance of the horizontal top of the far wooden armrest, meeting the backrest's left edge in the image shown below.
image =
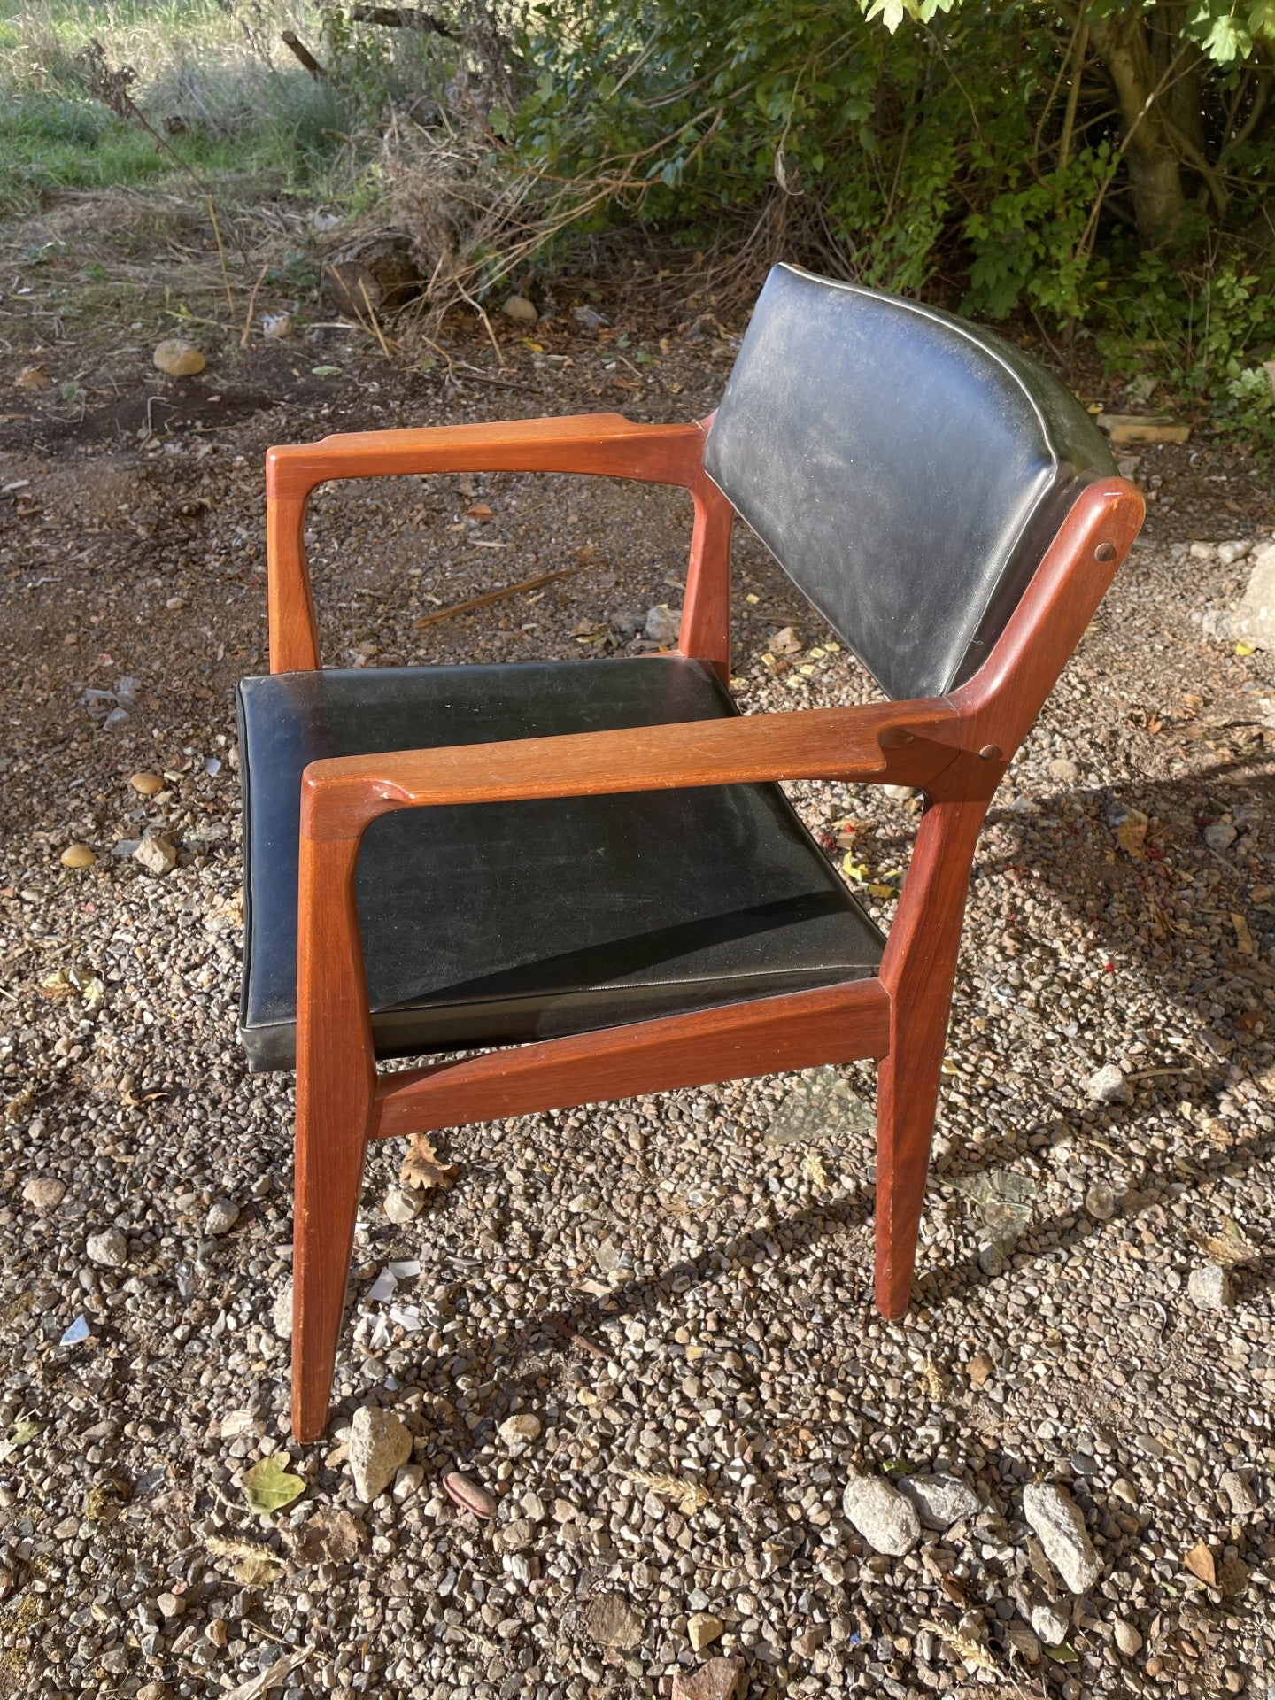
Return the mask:
<svg viewBox="0 0 1275 1700">
<path fill-rule="evenodd" d="M 700 471 L 706 425 L 634 425 L 620 413 L 366 430 L 267 449 L 265 495 L 304 500 L 333 478 L 396 473 L 598 473 L 690 488 Z"/>
</svg>

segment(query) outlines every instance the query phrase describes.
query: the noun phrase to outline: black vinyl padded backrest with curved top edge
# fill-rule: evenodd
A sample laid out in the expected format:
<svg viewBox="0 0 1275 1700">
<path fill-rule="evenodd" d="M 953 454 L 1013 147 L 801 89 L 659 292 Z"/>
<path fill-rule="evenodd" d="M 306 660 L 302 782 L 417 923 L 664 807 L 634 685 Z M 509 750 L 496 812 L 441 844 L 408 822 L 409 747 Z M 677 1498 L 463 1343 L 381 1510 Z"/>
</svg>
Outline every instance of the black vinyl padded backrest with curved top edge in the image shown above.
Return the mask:
<svg viewBox="0 0 1275 1700">
<path fill-rule="evenodd" d="M 950 313 L 777 265 L 704 466 L 891 697 L 988 656 L 1080 491 L 1076 398 Z"/>
</svg>

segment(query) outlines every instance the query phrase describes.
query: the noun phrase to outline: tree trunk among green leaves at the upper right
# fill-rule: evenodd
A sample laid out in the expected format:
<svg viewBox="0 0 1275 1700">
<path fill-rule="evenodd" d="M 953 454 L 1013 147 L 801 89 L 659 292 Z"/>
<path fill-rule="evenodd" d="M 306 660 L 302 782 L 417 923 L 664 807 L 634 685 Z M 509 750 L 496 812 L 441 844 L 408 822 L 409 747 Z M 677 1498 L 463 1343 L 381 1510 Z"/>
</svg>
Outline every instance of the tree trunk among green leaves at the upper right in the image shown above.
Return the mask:
<svg viewBox="0 0 1275 1700">
<path fill-rule="evenodd" d="M 1173 236 L 1187 211 L 1180 150 L 1158 87 L 1146 14 L 1112 12 L 1093 19 L 1090 39 L 1115 85 L 1125 122 L 1125 160 L 1137 235 L 1144 243 Z"/>
</svg>

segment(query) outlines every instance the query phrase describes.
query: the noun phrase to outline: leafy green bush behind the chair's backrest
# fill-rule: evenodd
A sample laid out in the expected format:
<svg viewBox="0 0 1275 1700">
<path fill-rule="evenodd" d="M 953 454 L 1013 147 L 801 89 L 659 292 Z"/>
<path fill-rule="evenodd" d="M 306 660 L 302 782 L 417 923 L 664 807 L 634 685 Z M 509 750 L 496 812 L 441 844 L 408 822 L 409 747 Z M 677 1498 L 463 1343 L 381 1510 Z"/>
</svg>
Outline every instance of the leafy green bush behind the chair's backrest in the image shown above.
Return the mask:
<svg viewBox="0 0 1275 1700">
<path fill-rule="evenodd" d="M 1170 10 L 1095 0 L 1090 31 L 1051 5 L 930 3 L 889 32 L 819 0 L 544 0 L 515 37 L 503 131 L 513 170 L 547 185 L 546 230 L 575 209 L 576 228 L 636 219 L 706 246 L 733 231 L 756 270 L 784 255 L 1030 314 L 1117 366 L 1153 342 L 1219 423 L 1275 437 L 1275 267 L 1239 241 L 1270 190 L 1275 73 L 1207 5 L 1212 48 L 1158 44 Z M 1129 119 L 1119 54 L 1153 76 L 1161 46 Z"/>
</svg>

